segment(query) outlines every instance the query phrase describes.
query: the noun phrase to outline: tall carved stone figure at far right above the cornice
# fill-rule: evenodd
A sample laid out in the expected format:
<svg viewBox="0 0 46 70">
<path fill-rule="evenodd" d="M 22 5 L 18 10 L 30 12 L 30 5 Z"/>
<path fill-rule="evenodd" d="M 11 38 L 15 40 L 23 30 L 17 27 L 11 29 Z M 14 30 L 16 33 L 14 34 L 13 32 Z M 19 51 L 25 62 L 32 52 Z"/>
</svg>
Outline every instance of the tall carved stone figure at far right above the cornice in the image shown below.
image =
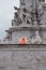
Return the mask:
<svg viewBox="0 0 46 70">
<path fill-rule="evenodd" d="M 41 24 L 41 25 L 43 24 L 43 23 L 41 23 L 42 17 L 43 17 L 43 13 L 44 13 L 43 6 L 42 6 L 41 3 L 39 3 L 37 10 L 36 10 L 36 18 L 37 18 L 37 24 L 39 24 L 39 25 L 40 25 L 40 24 Z"/>
</svg>

